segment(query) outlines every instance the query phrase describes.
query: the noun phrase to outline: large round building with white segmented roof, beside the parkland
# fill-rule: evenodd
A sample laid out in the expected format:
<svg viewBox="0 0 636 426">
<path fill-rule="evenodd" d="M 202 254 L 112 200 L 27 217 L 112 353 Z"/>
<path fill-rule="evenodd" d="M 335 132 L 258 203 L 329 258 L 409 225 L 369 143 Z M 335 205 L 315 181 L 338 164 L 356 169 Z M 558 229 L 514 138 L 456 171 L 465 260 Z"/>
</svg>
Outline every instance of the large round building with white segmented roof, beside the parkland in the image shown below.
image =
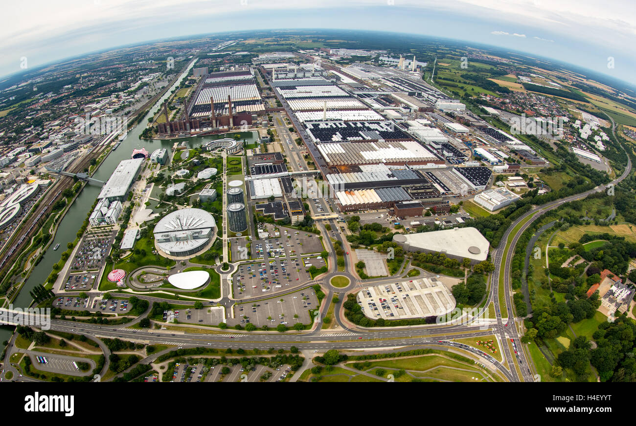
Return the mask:
<svg viewBox="0 0 636 426">
<path fill-rule="evenodd" d="M 190 256 L 214 237 L 216 223 L 210 213 L 196 208 L 173 211 L 155 225 L 155 243 L 172 256 Z"/>
</svg>

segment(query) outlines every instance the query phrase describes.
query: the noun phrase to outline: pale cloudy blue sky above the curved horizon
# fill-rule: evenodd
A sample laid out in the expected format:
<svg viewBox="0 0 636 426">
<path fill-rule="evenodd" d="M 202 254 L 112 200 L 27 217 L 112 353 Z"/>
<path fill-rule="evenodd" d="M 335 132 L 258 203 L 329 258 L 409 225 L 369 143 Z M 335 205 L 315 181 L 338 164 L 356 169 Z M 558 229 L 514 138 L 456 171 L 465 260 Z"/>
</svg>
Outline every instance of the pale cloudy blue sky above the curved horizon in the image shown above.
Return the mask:
<svg viewBox="0 0 636 426">
<path fill-rule="evenodd" d="M 555 58 L 636 84 L 633 0 L 3 2 L 0 76 L 156 39 L 252 29 L 399 31 Z M 364 47 L 364 46 L 362 46 Z M 613 65 L 613 66 L 612 66 Z"/>
</svg>

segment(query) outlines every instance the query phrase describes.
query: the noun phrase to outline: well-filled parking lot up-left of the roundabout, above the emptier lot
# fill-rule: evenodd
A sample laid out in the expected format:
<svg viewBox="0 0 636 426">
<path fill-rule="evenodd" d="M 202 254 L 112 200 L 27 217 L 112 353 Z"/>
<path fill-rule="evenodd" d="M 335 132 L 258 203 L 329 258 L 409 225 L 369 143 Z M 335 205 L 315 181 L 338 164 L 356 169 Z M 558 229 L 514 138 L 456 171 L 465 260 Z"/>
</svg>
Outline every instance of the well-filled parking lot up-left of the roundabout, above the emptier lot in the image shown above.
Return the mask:
<svg viewBox="0 0 636 426">
<path fill-rule="evenodd" d="M 326 265 L 320 256 L 279 258 L 269 262 L 244 263 L 232 277 L 233 294 L 237 298 L 268 297 L 272 293 L 289 291 L 311 280 L 310 266 Z"/>
</svg>

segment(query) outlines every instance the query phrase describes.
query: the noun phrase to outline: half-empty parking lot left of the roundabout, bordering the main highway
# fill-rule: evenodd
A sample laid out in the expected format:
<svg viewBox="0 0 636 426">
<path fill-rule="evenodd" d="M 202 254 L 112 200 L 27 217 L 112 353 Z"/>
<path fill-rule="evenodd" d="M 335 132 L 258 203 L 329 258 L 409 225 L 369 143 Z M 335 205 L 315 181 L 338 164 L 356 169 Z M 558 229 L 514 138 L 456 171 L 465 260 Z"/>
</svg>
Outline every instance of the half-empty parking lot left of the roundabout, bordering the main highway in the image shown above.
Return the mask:
<svg viewBox="0 0 636 426">
<path fill-rule="evenodd" d="M 315 291 L 304 288 L 277 298 L 239 303 L 233 307 L 234 317 L 228 318 L 228 325 L 245 326 L 252 323 L 258 328 L 265 325 L 276 328 L 279 324 L 284 324 L 291 328 L 296 323 L 310 324 L 313 320 L 309 311 L 318 307 Z"/>
</svg>

